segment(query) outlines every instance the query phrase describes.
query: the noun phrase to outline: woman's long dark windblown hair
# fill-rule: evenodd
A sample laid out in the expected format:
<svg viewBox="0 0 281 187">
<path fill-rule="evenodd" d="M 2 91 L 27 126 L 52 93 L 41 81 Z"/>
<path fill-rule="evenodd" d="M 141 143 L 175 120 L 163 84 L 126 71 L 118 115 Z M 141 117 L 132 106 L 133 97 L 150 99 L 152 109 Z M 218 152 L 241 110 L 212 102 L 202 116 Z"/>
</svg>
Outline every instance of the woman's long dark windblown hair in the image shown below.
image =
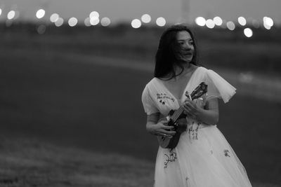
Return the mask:
<svg viewBox="0 0 281 187">
<path fill-rule="evenodd" d="M 178 43 L 176 43 L 176 34 L 178 32 L 186 31 L 190 34 L 193 40 L 194 52 L 191 64 L 197 65 L 197 43 L 194 34 L 185 25 L 173 25 L 166 29 L 159 41 L 157 53 L 155 55 L 155 71 L 154 76 L 157 78 L 164 78 L 169 75 L 169 79 L 180 75 L 183 72 L 183 63 L 178 60 Z M 176 74 L 174 67 L 181 67 L 181 72 Z"/>
</svg>

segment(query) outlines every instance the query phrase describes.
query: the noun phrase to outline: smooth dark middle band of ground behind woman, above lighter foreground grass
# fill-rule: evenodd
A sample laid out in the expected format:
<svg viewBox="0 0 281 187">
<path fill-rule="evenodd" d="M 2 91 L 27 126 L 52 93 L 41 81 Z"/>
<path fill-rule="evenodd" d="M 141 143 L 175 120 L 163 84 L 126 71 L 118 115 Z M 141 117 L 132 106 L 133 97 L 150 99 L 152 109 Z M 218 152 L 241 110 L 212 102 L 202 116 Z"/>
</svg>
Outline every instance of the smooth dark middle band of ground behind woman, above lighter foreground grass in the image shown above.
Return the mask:
<svg viewBox="0 0 281 187">
<path fill-rule="evenodd" d="M 1 61 L 1 134 L 155 159 L 157 141 L 145 132 L 141 105 L 150 72 L 79 63 L 55 53 L 24 56 Z M 251 181 L 280 183 L 280 109 L 280 103 L 242 95 L 221 104 L 218 127 Z"/>
</svg>

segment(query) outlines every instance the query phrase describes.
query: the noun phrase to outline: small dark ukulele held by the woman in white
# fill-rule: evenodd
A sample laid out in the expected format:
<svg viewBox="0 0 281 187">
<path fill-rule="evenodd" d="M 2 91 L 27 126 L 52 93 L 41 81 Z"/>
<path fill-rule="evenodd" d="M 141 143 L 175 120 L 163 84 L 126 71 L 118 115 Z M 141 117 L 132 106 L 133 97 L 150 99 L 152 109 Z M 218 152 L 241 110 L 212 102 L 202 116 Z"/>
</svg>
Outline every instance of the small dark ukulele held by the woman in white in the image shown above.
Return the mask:
<svg viewBox="0 0 281 187">
<path fill-rule="evenodd" d="M 204 95 L 207 92 L 207 85 L 202 82 L 200 85 L 198 85 L 195 90 L 192 91 L 190 95 L 188 95 L 188 92 L 185 92 L 185 96 L 189 97 L 190 100 L 197 99 Z M 169 115 L 166 116 L 166 120 L 168 120 L 167 125 L 168 126 L 173 126 L 174 130 L 176 131 L 176 134 L 174 134 L 173 137 L 167 138 L 164 136 L 157 136 L 159 145 L 162 148 L 175 148 L 176 145 L 178 144 L 178 140 L 181 137 L 181 133 L 185 132 L 187 125 L 187 120 L 186 120 L 186 114 L 183 113 L 184 108 L 181 106 L 179 109 L 176 111 L 171 110 L 169 112 Z M 163 120 L 163 119 L 160 119 Z"/>
</svg>

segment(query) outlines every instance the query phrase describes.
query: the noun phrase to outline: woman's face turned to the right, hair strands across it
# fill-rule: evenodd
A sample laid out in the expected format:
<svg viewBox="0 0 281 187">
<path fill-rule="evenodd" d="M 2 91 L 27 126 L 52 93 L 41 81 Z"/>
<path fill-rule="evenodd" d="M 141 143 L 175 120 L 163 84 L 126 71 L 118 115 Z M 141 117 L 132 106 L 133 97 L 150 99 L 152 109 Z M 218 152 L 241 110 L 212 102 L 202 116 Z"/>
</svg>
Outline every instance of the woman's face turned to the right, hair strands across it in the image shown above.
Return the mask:
<svg viewBox="0 0 281 187">
<path fill-rule="evenodd" d="M 194 54 L 193 39 L 189 32 L 181 31 L 176 34 L 176 43 L 180 47 L 181 59 L 185 62 L 191 62 Z"/>
</svg>

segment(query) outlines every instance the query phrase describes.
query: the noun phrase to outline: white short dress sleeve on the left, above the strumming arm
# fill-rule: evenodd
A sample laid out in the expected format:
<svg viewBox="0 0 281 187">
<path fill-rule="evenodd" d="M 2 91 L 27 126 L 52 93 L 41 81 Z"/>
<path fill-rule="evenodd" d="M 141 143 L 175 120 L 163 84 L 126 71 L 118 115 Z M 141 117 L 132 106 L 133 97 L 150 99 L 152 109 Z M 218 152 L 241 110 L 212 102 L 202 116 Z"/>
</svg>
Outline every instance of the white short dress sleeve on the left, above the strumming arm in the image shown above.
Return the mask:
<svg viewBox="0 0 281 187">
<path fill-rule="evenodd" d="M 148 90 L 148 85 L 146 85 L 145 89 L 143 90 L 141 101 L 143 102 L 143 109 L 145 109 L 145 113 L 147 113 L 148 115 L 159 112 L 159 110 L 152 101 L 150 92 Z"/>
</svg>

